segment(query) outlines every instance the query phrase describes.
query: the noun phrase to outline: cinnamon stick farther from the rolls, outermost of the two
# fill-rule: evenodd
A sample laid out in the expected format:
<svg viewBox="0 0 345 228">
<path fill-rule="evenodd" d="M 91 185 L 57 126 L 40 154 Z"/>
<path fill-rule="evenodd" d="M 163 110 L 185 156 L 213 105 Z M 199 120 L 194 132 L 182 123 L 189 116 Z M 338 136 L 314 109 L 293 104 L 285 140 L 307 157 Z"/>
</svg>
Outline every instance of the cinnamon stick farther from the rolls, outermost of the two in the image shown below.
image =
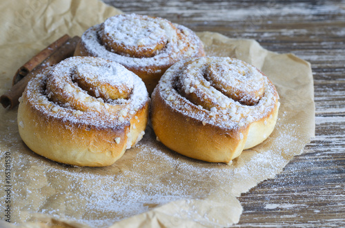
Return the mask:
<svg viewBox="0 0 345 228">
<path fill-rule="evenodd" d="M 33 56 L 28 62 L 22 65 L 14 74 L 12 85 L 19 82 L 23 77 L 29 74 L 37 65 L 41 64 L 45 61 L 52 53 L 56 52 L 64 43 L 66 43 L 70 39 L 68 34 L 64 34 L 62 37 L 57 39 L 55 42 L 51 43 L 47 48 L 44 48 Z"/>
</svg>

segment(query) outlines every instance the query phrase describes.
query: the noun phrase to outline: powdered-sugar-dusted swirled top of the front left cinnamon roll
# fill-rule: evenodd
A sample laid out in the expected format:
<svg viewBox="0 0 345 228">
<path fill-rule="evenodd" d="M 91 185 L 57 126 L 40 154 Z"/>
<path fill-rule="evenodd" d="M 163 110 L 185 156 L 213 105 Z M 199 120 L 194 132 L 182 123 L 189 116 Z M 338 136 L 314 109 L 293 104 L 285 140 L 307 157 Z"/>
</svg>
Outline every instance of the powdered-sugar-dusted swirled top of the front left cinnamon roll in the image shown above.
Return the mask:
<svg viewBox="0 0 345 228">
<path fill-rule="evenodd" d="M 97 80 L 107 81 L 110 85 L 121 83 L 130 89 L 128 99 L 91 96 L 72 82 L 75 70 L 90 70 L 91 75 L 95 74 L 91 78 L 101 75 Z M 38 74 L 28 83 L 25 94 L 31 106 L 46 116 L 95 127 L 128 125 L 136 111 L 148 102 L 148 92 L 138 76 L 118 63 L 93 57 L 72 57 Z"/>
</svg>

